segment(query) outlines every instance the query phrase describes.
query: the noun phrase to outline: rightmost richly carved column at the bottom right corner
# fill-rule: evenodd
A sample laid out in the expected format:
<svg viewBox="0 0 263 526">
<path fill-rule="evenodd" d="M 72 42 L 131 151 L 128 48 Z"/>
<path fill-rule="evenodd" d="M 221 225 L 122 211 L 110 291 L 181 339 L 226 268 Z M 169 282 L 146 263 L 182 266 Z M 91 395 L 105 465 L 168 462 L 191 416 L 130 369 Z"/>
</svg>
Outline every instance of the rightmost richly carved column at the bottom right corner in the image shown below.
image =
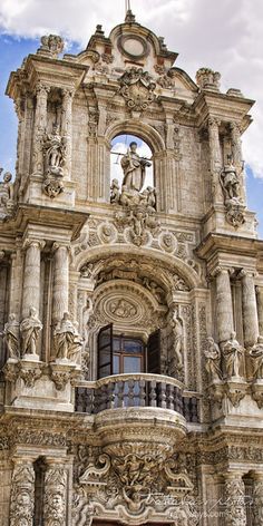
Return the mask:
<svg viewBox="0 0 263 526">
<path fill-rule="evenodd" d="M 241 473 L 227 473 L 225 477 L 224 504 L 225 526 L 246 526 L 245 485 Z"/>
</svg>

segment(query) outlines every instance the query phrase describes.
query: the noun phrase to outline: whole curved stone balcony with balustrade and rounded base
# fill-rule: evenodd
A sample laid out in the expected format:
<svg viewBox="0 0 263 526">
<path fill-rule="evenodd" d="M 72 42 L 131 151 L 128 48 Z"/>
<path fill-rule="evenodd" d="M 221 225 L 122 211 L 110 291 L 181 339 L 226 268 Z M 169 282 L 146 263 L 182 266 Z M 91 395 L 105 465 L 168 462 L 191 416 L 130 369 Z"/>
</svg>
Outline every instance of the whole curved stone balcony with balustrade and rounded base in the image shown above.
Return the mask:
<svg viewBox="0 0 263 526">
<path fill-rule="evenodd" d="M 197 399 L 183 396 L 183 384 L 166 376 L 115 374 L 78 382 L 75 393 L 75 411 L 94 415 L 104 450 L 124 442 L 171 449 L 186 435 L 187 421 L 198 421 Z"/>
</svg>

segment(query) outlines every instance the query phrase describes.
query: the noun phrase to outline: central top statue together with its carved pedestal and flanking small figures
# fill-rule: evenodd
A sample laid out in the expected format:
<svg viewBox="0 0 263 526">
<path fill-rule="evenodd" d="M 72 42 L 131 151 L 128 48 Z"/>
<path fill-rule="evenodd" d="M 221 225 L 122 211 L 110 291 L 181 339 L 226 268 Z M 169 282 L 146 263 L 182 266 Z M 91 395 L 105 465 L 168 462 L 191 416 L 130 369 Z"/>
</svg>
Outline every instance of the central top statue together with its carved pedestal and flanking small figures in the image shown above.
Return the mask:
<svg viewBox="0 0 263 526">
<path fill-rule="evenodd" d="M 113 152 L 118 158 L 121 157 L 121 174 L 118 173 L 118 178 L 114 177 L 111 179 L 110 203 L 123 206 L 123 211 L 116 215 L 116 221 L 119 224 L 130 226 L 132 241 L 140 246 L 147 243 L 146 228 L 155 230 L 158 223 L 155 217 L 156 195 L 153 185 L 150 157 L 138 154 L 138 140 L 142 143 L 140 139 L 130 140 L 125 154 Z M 147 146 L 146 148 L 149 150 Z M 113 167 L 117 163 L 114 163 Z M 147 173 L 149 168 L 150 173 Z M 149 181 L 150 184 L 147 184 Z"/>
</svg>

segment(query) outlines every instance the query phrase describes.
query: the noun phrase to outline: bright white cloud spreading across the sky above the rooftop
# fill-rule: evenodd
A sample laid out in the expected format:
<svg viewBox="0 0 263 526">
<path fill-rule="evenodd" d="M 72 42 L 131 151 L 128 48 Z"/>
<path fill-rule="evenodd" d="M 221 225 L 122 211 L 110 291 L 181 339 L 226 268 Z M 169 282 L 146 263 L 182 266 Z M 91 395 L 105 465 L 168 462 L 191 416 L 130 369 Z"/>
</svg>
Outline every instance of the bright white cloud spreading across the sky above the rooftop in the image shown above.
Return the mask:
<svg viewBox="0 0 263 526">
<path fill-rule="evenodd" d="M 178 66 L 192 77 L 202 66 L 222 74 L 224 88 L 240 88 L 257 104 L 244 135 L 244 154 L 263 177 L 262 0 L 132 0 L 137 20 L 178 51 Z M 0 0 L 0 28 L 17 36 L 58 32 L 86 47 L 97 23 L 106 33 L 120 23 L 124 0 Z"/>
</svg>

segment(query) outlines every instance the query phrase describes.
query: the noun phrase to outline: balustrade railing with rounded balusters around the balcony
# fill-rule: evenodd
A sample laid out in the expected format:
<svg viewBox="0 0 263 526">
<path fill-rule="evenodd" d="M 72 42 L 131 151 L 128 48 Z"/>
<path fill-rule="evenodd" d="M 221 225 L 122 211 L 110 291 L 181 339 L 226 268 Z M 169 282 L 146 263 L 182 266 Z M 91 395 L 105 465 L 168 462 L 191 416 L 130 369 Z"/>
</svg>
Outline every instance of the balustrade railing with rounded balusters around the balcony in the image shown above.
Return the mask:
<svg viewBox="0 0 263 526">
<path fill-rule="evenodd" d="M 171 409 L 198 422 L 198 400 L 183 396 L 183 384 L 160 374 L 114 374 L 95 382 L 78 382 L 75 410 L 97 415 L 105 409 L 152 407 Z"/>
</svg>

